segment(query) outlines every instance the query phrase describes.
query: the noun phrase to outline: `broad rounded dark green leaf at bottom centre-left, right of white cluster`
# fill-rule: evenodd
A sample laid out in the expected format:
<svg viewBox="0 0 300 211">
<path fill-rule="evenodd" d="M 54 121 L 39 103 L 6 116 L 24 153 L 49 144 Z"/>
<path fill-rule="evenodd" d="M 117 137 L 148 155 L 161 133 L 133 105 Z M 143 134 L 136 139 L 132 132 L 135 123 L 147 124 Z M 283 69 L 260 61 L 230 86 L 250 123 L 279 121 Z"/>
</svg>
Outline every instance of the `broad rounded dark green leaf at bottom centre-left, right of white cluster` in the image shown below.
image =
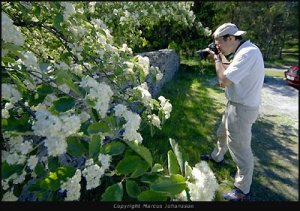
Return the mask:
<svg viewBox="0 0 300 211">
<path fill-rule="evenodd" d="M 124 157 L 116 166 L 117 175 L 129 175 L 131 177 L 139 177 L 143 175 L 149 165 L 137 155 L 129 155 Z"/>
</svg>

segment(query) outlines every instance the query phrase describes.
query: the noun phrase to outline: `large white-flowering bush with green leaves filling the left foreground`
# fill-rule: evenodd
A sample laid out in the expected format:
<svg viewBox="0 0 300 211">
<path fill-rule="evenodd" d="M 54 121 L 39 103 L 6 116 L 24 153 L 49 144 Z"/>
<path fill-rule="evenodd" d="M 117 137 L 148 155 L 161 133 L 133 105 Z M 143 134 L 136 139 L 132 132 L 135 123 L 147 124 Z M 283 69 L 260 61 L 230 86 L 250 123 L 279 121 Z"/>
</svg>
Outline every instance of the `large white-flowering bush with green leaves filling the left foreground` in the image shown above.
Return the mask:
<svg viewBox="0 0 300 211">
<path fill-rule="evenodd" d="M 191 168 L 170 139 L 165 173 L 142 145 L 142 122 L 170 118 L 145 82 L 161 72 L 115 45 L 94 3 L 1 4 L 2 201 L 213 199 L 205 163 Z"/>
</svg>

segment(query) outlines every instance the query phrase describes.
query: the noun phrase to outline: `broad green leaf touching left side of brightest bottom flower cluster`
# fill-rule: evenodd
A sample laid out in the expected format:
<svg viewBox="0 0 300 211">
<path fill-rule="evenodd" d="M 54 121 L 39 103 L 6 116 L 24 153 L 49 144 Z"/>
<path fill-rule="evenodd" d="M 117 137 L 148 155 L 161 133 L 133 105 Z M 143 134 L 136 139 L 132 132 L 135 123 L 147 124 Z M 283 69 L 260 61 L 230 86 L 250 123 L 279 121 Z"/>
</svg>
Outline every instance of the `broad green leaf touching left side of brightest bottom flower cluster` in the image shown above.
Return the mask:
<svg viewBox="0 0 300 211">
<path fill-rule="evenodd" d="M 159 177 L 154 183 L 150 184 L 151 190 L 168 192 L 172 196 L 181 193 L 185 188 L 186 181 L 179 174 L 170 177 Z"/>
</svg>

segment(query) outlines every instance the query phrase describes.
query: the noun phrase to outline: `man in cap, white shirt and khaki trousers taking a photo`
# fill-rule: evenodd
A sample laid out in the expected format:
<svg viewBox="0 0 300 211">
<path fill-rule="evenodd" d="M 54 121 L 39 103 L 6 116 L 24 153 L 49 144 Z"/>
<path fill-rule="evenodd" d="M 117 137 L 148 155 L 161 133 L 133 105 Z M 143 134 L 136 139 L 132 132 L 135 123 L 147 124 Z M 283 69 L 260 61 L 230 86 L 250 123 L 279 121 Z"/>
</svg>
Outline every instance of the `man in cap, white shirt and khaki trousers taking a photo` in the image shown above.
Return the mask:
<svg viewBox="0 0 300 211">
<path fill-rule="evenodd" d="M 242 38 L 235 24 L 225 23 L 213 33 L 217 53 L 207 48 L 213 58 L 219 84 L 225 87 L 228 100 L 217 130 L 218 141 L 210 155 L 202 160 L 222 164 L 229 150 L 237 165 L 234 189 L 224 194 L 229 201 L 250 200 L 254 159 L 251 149 L 251 128 L 259 114 L 264 82 L 264 61 L 259 48 Z M 225 56 L 232 54 L 229 63 Z"/>
</svg>

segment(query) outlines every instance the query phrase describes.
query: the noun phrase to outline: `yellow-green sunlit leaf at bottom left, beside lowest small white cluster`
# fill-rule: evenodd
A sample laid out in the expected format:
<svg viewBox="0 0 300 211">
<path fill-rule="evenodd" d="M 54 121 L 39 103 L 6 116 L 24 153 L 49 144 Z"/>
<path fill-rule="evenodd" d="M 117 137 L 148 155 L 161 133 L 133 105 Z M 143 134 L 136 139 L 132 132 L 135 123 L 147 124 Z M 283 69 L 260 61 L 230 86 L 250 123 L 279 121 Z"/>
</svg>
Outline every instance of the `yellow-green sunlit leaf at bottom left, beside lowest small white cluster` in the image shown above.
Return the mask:
<svg viewBox="0 0 300 211">
<path fill-rule="evenodd" d="M 74 176 L 76 169 L 71 166 L 58 167 L 55 172 L 39 182 L 39 186 L 45 190 L 57 191 L 62 182 Z"/>
</svg>

